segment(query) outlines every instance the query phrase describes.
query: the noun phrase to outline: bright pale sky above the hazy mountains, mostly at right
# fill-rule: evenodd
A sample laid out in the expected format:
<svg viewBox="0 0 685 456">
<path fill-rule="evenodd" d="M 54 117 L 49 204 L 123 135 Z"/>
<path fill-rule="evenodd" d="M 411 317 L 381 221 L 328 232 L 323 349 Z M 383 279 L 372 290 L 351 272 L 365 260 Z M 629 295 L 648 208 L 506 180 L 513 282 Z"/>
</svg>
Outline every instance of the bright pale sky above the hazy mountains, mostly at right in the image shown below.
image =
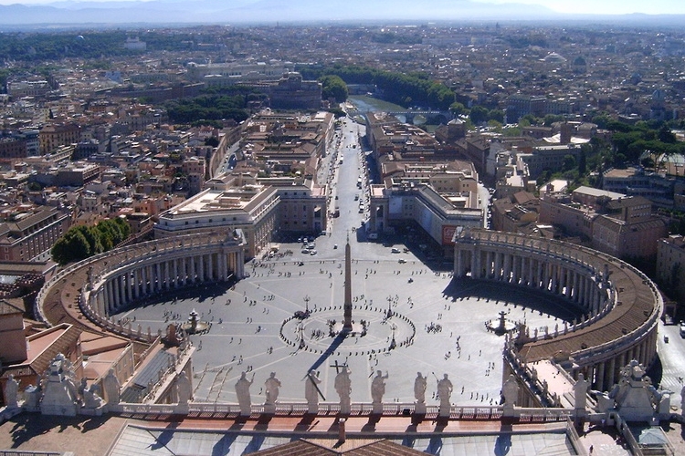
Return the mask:
<svg viewBox="0 0 685 456">
<path fill-rule="evenodd" d="M 55 0 L 0 0 L 0 5 L 24 4 L 37 5 L 49 4 Z M 79 1 L 79 0 L 72 0 Z M 80 0 L 80 1 L 131 1 L 131 0 Z M 139 0 L 140 1 L 140 0 Z M 339 0 L 321 0 L 322 2 Z M 454 0 L 455 4 L 459 0 Z M 562 13 L 585 13 L 585 14 L 628 14 L 644 13 L 648 15 L 658 14 L 685 14 L 685 1 L 683 0 L 470 0 L 483 4 L 524 3 L 547 6 L 554 11 Z M 227 0 L 225 5 L 234 3 Z M 239 3 L 246 3 L 241 0 Z"/>
</svg>

